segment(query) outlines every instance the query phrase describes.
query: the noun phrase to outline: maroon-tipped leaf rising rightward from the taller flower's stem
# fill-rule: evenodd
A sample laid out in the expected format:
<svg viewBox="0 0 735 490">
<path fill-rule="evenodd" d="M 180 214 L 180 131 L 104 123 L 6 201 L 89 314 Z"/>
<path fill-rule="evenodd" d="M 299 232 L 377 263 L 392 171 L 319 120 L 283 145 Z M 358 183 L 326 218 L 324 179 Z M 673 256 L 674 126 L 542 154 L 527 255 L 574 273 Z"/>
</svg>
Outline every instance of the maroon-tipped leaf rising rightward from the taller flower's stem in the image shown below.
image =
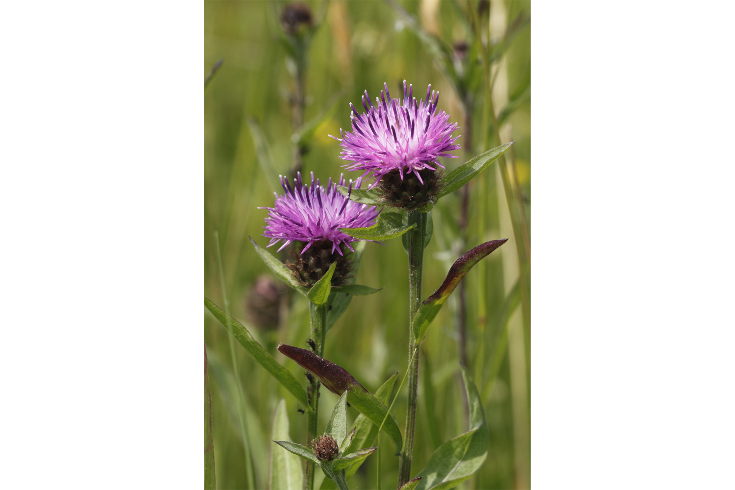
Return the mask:
<svg viewBox="0 0 735 490">
<path fill-rule="evenodd" d="M 412 323 L 412 330 L 414 338 L 417 342 L 421 342 L 426 330 L 431 325 L 434 318 L 437 317 L 439 310 L 442 309 L 442 305 L 449 298 L 449 295 L 454 291 L 462 278 L 470 272 L 470 269 L 475 264 L 480 262 L 481 259 L 490 255 L 492 251 L 507 242 L 508 239 L 491 240 L 490 242 L 484 242 L 482 245 L 478 245 L 465 255 L 456 259 L 456 262 L 452 264 L 449 269 L 447 277 L 444 279 L 441 287 L 434 291 L 434 294 L 423 300 L 423 303 L 419 306 L 416 316 Z"/>
</svg>

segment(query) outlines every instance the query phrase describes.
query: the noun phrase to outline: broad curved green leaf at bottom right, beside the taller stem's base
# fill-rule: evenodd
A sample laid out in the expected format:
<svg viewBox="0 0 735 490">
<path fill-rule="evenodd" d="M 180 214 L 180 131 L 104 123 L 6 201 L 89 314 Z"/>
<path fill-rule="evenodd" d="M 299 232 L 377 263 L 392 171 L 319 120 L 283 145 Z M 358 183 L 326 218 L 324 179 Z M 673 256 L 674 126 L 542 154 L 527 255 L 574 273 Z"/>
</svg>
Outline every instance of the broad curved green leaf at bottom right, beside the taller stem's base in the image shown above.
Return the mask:
<svg viewBox="0 0 735 490">
<path fill-rule="evenodd" d="M 442 444 L 418 472 L 423 477 L 416 490 L 446 490 L 474 475 L 487 458 L 488 429 L 475 383 L 460 365 L 470 408 L 470 430 Z"/>
</svg>

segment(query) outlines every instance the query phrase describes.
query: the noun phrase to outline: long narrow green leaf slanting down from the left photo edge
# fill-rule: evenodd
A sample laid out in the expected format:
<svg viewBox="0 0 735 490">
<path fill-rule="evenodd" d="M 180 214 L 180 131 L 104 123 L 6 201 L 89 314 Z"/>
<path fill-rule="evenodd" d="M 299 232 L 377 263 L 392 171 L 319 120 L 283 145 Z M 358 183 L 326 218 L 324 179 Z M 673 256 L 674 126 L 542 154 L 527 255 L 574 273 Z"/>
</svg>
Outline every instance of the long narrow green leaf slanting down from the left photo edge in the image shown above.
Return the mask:
<svg viewBox="0 0 735 490">
<path fill-rule="evenodd" d="M 227 331 L 234 336 L 237 342 L 240 342 L 240 345 L 245 348 L 248 354 L 250 354 L 258 364 L 264 367 L 266 371 L 270 372 L 270 375 L 272 375 L 273 378 L 276 378 L 276 380 L 279 381 L 285 389 L 293 394 L 293 396 L 296 397 L 296 400 L 306 407 L 306 410 L 312 410 L 309 406 L 309 400 L 306 397 L 306 391 L 304 391 L 304 387 L 301 386 L 301 383 L 296 381 L 296 378 L 293 377 L 293 374 L 291 374 L 289 370 L 279 364 L 276 359 L 273 359 L 273 356 L 271 356 L 267 350 L 255 341 L 250 332 L 248 332 L 248 329 L 243 327 L 242 323 L 238 322 L 233 317 L 228 317 L 219 306 L 215 305 L 215 303 L 212 303 L 212 301 L 207 298 L 204 298 L 204 306 L 207 306 L 207 309 L 215 315 L 215 318 L 225 326 Z"/>
</svg>

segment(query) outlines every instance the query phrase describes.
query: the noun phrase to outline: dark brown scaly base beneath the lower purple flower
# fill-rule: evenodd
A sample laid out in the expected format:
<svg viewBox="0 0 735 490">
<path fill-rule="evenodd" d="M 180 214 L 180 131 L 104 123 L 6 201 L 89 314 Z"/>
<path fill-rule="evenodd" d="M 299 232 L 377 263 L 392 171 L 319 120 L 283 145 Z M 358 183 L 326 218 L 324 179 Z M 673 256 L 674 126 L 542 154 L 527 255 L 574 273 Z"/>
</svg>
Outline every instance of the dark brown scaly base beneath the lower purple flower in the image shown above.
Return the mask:
<svg viewBox="0 0 735 490">
<path fill-rule="evenodd" d="M 337 261 L 337 267 L 334 267 L 334 275 L 331 276 L 332 286 L 342 286 L 351 277 L 352 260 L 350 258 L 351 251 L 344 243 L 340 244 L 342 255 L 338 251 L 331 253 L 331 240 L 323 240 L 314 242 L 309 249 L 301 254 L 306 244 L 304 242 L 294 242 L 295 247 L 291 250 L 291 258 L 286 262 L 286 267 L 293 271 L 296 281 L 304 287 L 312 287 L 326 271 L 329 270 L 332 262 Z"/>
</svg>

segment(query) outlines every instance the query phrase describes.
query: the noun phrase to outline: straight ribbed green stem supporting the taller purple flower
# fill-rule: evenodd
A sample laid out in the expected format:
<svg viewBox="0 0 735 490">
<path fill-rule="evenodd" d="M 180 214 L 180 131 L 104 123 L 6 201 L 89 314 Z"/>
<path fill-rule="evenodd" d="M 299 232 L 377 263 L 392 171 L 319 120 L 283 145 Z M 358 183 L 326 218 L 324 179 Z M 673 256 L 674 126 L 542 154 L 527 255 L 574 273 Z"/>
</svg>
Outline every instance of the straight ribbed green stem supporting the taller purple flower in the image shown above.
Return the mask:
<svg viewBox="0 0 735 490">
<path fill-rule="evenodd" d="M 411 325 L 421 302 L 421 276 L 423 274 L 423 241 L 426 238 L 426 213 L 409 212 L 409 225 L 416 223 L 416 228 L 406 233 L 409 252 L 409 392 L 406 410 L 406 436 L 404 447 L 398 461 L 398 486 L 403 486 L 411 475 L 411 459 L 413 455 L 414 430 L 416 424 L 416 406 L 418 395 L 418 352 Z"/>
</svg>

